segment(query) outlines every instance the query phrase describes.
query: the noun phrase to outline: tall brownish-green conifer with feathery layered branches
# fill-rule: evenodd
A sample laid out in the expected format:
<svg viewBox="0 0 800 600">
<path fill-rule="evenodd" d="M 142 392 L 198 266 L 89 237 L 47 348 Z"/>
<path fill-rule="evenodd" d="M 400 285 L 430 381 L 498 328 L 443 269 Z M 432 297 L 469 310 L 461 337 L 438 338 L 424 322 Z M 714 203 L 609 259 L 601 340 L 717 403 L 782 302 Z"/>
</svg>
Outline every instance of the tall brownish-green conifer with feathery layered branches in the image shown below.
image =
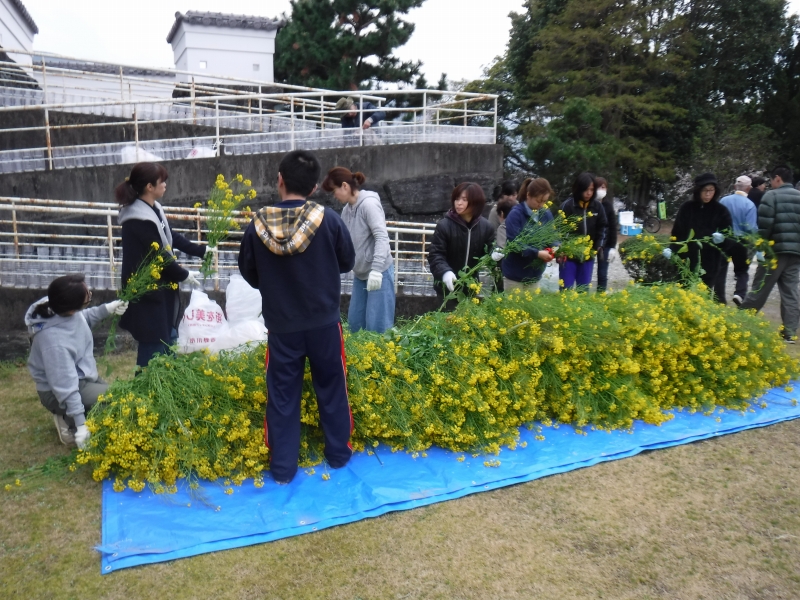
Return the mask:
<svg viewBox="0 0 800 600">
<path fill-rule="evenodd" d="M 585 98 L 613 136 L 609 176 L 621 171 L 628 195 L 648 198 L 651 182 L 674 172 L 660 138 L 683 115 L 673 86 L 687 68 L 686 36 L 671 0 L 570 0 L 538 36 L 523 105 L 544 120 L 558 117 L 571 98 Z M 541 126 L 540 126 L 541 129 Z M 531 134 L 538 133 L 531 129 Z"/>
</svg>

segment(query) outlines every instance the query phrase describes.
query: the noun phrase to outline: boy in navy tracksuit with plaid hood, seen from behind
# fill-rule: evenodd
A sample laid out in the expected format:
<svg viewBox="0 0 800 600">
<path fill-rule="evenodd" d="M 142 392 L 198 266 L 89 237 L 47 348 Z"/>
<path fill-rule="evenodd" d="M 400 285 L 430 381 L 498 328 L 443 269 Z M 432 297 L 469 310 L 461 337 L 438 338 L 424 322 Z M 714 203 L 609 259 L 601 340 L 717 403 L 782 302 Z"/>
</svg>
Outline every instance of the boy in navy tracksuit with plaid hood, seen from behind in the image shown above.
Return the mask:
<svg viewBox="0 0 800 600">
<path fill-rule="evenodd" d="M 319 175 L 319 161 L 310 152 L 287 154 L 278 168 L 281 202 L 256 213 L 239 249 L 239 271 L 261 291 L 269 329 L 265 437 L 270 470 L 278 483 L 290 482 L 297 473 L 306 358 L 325 436 L 325 458 L 336 469 L 352 455 L 339 274 L 353 269 L 355 250 L 339 215 L 306 200 Z"/>
</svg>

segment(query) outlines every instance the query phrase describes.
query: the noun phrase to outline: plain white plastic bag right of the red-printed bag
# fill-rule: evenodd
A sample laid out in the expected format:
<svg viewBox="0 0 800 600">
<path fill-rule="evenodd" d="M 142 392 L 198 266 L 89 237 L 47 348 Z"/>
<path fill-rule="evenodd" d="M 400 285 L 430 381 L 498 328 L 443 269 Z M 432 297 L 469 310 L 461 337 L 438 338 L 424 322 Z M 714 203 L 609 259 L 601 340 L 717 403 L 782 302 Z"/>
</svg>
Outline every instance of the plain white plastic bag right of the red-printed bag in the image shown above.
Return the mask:
<svg viewBox="0 0 800 600">
<path fill-rule="evenodd" d="M 211 349 L 219 351 L 266 341 L 267 328 L 261 310 L 261 292 L 250 287 L 241 275 L 231 275 L 225 288 L 228 331 Z"/>
</svg>

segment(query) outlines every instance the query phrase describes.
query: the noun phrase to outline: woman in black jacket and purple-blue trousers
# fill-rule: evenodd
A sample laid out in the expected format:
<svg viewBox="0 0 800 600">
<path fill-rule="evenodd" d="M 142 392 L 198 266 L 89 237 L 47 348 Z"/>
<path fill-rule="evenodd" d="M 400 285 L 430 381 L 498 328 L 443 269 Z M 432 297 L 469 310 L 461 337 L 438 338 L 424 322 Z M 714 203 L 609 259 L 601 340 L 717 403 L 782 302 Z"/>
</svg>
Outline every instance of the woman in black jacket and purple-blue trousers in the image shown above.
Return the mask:
<svg viewBox="0 0 800 600">
<path fill-rule="evenodd" d="M 592 239 L 592 248 L 599 259 L 605 258 L 603 246 L 606 241 L 608 219 L 603 205 L 597 199 L 597 183 L 591 173 L 581 173 L 572 184 L 572 196 L 561 205 L 561 211 L 567 217 L 580 217 L 577 235 L 588 235 Z M 573 285 L 586 288 L 592 283 L 594 258 L 584 260 L 582 257 L 568 258 L 558 269 L 558 276 L 564 282 L 564 289 Z"/>
</svg>

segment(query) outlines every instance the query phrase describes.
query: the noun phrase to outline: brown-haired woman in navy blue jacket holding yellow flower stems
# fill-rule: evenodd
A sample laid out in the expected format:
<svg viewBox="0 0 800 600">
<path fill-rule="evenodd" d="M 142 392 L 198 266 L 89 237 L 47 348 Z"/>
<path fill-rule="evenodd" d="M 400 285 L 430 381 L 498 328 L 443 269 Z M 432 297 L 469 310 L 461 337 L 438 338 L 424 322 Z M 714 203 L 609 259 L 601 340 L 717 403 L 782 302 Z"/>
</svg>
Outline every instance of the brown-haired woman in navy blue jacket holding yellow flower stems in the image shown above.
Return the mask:
<svg viewBox="0 0 800 600">
<path fill-rule="evenodd" d="M 530 222 L 548 223 L 553 220 L 552 213 L 545 207 L 553 195 L 553 188 L 546 179 L 531 179 L 523 189 L 525 201 L 520 202 L 506 219 L 508 242 L 514 241 Z M 503 287 L 506 291 L 525 288 L 542 278 L 545 266 L 553 260 L 544 248 L 529 247 L 522 252 L 509 252 L 503 262 Z"/>
</svg>

